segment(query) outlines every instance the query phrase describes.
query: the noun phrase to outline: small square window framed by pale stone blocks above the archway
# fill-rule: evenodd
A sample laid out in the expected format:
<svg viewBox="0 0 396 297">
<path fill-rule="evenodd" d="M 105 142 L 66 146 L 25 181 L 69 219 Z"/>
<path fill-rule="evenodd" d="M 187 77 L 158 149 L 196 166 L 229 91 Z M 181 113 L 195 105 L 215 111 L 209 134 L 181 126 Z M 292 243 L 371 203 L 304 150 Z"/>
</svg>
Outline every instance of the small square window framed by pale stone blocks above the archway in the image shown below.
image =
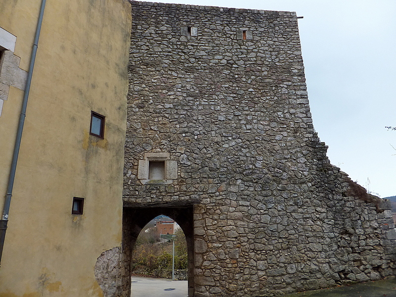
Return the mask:
<svg viewBox="0 0 396 297">
<path fill-rule="evenodd" d="M 142 184 L 171 184 L 177 179 L 177 161 L 169 152 L 147 152 L 139 160 L 138 179 Z"/>
</svg>

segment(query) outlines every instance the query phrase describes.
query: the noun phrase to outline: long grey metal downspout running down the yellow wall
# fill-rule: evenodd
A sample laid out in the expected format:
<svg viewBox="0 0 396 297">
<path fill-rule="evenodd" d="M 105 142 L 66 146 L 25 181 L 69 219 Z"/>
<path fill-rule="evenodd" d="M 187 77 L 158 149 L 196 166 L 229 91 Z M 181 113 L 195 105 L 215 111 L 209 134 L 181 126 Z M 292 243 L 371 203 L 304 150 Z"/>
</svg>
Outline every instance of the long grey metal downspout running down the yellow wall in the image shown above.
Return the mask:
<svg viewBox="0 0 396 297">
<path fill-rule="evenodd" d="M 0 263 L 1 263 L 1 255 L 3 253 L 3 247 L 4 247 L 5 231 L 7 230 L 8 213 L 9 213 L 9 206 L 12 197 L 12 188 L 14 186 L 14 180 L 15 180 L 16 163 L 18 161 L 19 148 L 21 146 L 23 124 L 25 123 L 26 107 L 28 104 L 30 85 L 32 82 L 32 75 L 33 75 L 33 67 L 34 67 L 34 62 L 36 60 L 36 52 L 39 44 L 40 30 L 41 30 L 41 24 L 43 22 L 45 7 L 46 7 L 46 0 L 42 0 L 39 19 L 37 21 L 36 35 L 33 43 L 32 56 L 30 58 L 29 72 L 26 79 L 25 94 L 23 97 L 21 114 L 19 115 L 19 124 L 18 124 L 18 131 L 16 133 L 14 154 L 12 155 L 11 168 L 9 170 L 7 193 L 5 194 L 3 213 L 0 220 Z"/>
</svg>

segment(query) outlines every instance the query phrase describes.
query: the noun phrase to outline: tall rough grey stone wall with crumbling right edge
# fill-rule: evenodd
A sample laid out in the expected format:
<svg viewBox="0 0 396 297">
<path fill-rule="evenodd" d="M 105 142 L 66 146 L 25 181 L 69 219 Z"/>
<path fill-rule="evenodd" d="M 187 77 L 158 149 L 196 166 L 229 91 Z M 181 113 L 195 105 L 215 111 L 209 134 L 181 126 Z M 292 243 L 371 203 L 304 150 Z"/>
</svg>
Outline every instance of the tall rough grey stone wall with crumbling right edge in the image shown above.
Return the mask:
<svg viewBox="0 0 396 297">
<path fill-rule="evenodd" d="M 195 296 L 395 274 L 387 201 L 331 165 L 314 132 L 296 14 L 132 7 L 124 206 L 195 204 Z M 139 179 L 161 152 L 176 179 Z"/>
</svg>

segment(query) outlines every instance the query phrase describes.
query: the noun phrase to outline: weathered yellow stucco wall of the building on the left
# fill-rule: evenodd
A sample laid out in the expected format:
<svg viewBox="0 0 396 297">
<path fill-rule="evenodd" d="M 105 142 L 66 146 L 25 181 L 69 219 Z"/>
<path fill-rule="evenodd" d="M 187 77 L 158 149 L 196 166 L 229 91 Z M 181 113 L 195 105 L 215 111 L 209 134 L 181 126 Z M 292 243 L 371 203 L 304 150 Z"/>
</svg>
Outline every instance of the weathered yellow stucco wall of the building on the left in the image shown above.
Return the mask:
<svg viewBox="0 0 396 297">
<path fill-rule="evenodd" d="M 0 1 L 28 70 L 41 0 Z M 0 267 L 0 297 L 100 297 L 94 266 L 121 245 L 131 8 L 127 0 L 47 0 Z M 2 208 L 23 91 L 0 116 Z M 104 139 L 89 134 L 91 110 Z M 85 198 L 72 215 L 73 197 Z M 2 209 L 1 209 L 2 210 Z"/>
</svg>

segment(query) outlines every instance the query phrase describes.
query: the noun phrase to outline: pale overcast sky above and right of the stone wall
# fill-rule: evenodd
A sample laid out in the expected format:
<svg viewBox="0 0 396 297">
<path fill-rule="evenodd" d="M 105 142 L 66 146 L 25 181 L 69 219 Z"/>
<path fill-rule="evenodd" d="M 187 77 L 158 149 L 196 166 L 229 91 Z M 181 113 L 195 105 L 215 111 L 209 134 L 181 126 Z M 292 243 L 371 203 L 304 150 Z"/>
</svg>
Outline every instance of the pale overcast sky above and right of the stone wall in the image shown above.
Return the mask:
<svg viewBox="0 0 396 297">
<path fill-rule="evenodd" d="M 158 1 L 157 1 L 158 2 Z M 315 130 L 333 165 L 396 195 L 396 0 L 165 0 L 296 11 Z M 392 147 L 393 146 L 393 147 Z"/>
</svg>

